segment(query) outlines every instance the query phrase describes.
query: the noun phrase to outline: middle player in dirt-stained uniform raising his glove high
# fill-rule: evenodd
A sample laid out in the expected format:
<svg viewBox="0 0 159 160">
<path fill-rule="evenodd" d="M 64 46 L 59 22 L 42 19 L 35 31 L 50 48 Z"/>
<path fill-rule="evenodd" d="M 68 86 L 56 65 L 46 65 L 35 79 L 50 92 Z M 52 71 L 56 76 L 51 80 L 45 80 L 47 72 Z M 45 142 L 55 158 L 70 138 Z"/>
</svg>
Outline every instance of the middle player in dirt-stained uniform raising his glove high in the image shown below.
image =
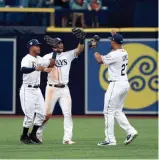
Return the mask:
<svg viewBox="0 0 159 160">
<path fill-rule="evenodd" d="M 48 73 L 48 81 L 45 92 L 46 121 L 49 120 L 55 104 L 58 101 L 64 115 L 63 144 L 75 143 L 72 141 L 72 100 L 67 84 L 69 82 L 71 62 L 83 51 L 85 39 L 85 33 L 81 29 L 74 28 L 72 32 L 79 39 L 79 44 L 76 49 L 67 52 L 63 52 L 64 45 L 60 38 L 45 38 L 46 42 L 51 45 L 53 52 L 45 55 L 44 58 L 49 59 L 52 55 L 56 54 L 55 66 L 54 68 L 50 69 L 50 73 Z M 43 127 L 44 126 L 40 127 L 37 132 L 37 137 L 41 141 Z"/>
</svg>

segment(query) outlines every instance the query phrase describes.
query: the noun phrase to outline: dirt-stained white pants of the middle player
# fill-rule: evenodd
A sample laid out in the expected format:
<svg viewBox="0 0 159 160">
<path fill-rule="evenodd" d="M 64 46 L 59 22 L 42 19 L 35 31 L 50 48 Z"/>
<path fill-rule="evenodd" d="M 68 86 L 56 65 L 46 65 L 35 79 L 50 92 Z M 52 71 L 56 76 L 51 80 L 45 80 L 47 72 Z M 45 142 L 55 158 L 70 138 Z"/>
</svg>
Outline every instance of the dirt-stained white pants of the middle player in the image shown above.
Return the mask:
<svg viewBox="0 0 159 160">
<path fill-rule="evenodd" d="M 46 86 L 45 107 L 46 115 L 52 114 L 55 104 L 59 102 L 62 113 L 64 115 L 64 137 L 63 141 L 72 140 L 73 122 L 72 122 L 72 100 L 68 86 L 57 88 Z M 37 134 L 42 136 L 44 127 L 38 129 Z"/>
</svg>

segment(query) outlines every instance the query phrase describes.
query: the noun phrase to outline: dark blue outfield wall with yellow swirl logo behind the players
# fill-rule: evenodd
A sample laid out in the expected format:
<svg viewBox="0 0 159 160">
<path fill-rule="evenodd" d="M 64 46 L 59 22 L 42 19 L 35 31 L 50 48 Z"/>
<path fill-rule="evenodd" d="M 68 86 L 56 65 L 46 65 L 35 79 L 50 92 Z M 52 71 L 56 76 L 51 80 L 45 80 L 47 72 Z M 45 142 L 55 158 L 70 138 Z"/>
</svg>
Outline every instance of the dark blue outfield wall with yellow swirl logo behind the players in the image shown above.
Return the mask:
<svg viewBox="0 0 159 160">
<path fill-rule="evenodd" d="M 30 31 L 30 30 L 29 30 Z M 103 110 L 104 92 L 107 89 L 107 68 L 99 66 L 88 49 L 88 40 L 94 34 L 101 36 L 99 51 L 108 52 L 110 35 L 108 30 L 86 30 L 85 53 L 72 63 L 70 71 L 70 91 L 74 115 L 101 114 Z M 156 30 L 119 30 L 123 34 L 124 48 L 129 52 L 128 76 L 131 84 L 129 96 L 124 111 L 128 114 L 157 114 L 157 31 Z M 3 32 L 4 33 L 4 32 Z M 26 34 L 27 33 L 27 34 Z M 7 33 L 1 36 L 1 79 L 0 79 L 0 114 L 23 114 L 20 107 L 19 88 L 21 86 L 20 62 L 27 54 L 26 44 L 32 38 L 42 42 L 41 56 L 51 51 L 43 41 L 44 34 L 32 32 Z M 70 33 L 48 32 L 49 35 L 60 37 L 64 41 L 65 49 L 76 47 L 78 41 Z M 46 74 L 42 74 L 41 89 L 45 93 Z M 61 114 L 57 105 L 54 114 Z"/>
</svg>

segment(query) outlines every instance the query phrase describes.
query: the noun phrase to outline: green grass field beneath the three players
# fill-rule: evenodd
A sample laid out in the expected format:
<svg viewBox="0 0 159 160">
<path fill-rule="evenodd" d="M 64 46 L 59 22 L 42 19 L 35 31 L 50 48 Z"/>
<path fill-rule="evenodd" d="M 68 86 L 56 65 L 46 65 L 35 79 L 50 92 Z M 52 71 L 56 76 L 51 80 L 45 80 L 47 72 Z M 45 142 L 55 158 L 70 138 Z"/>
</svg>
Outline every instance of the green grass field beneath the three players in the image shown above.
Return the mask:
<svg viewBox="0 0 159 160">
<path fill-rule="evenodd" d="M 103 118 L 74 118 L 74 145 L 63 145 L 63 118 L 49 121 L 43 145 L 19 141 L 23 118 L 0 118 L 0 159 L 157 159 L 157 118 L 130 118 L 138 130 L 135 141 L 125 146 L 125 133 L 115 126 L 117 146 L 98 147 L 104 140 Z"/>
</svg>

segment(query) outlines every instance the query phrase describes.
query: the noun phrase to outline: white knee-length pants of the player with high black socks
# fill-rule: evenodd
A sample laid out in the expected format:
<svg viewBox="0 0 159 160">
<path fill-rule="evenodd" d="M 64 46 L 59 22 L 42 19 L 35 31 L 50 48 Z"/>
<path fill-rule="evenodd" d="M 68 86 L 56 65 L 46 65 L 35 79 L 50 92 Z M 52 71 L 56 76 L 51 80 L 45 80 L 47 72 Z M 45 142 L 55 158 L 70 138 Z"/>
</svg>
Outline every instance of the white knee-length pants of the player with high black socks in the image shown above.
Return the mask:
<svg viewBox="0 0 159 160">
<path fill-rule="evenodd" d="M 44 97 L 40 88 L 29 88 L 22 85 L 20 89 L 20 102 L 25 114 L 23 127 L 29 128 L 33 124 L 41 126 L 45 120 Z"/>
</svg>

